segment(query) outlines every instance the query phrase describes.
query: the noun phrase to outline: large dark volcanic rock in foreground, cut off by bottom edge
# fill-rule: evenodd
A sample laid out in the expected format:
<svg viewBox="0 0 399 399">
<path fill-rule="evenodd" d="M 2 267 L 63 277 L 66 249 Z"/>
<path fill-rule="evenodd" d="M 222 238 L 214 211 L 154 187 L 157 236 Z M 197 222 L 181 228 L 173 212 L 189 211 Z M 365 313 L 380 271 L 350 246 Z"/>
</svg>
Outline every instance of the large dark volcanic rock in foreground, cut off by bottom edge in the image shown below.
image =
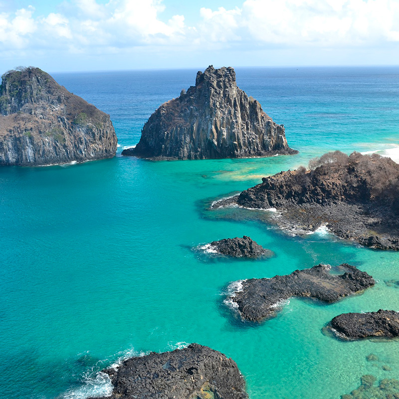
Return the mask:
<svg viewBox="0 0 399 399">
<path fill-rule="evenodd" d="M 247 398 L 244 379 L 235 362 L 199 344 L 131 358 L 118 369 L 104 373 L 114 386 L 108 399 Z"/>
</svg>

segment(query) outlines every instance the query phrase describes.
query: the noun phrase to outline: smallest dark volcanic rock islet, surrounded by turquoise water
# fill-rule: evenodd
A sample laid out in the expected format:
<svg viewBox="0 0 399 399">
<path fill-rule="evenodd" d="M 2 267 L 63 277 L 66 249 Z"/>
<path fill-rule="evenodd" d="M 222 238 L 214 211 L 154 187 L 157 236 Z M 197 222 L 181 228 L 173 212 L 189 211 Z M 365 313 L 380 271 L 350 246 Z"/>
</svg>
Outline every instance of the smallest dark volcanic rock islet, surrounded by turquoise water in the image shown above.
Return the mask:
<svg viewBox="0 0 399 399">
<path fill-rule="evenodd" d="M 229 256 L 256 257 L 266 253 L 266 250 L 261 245 L 246 235 L 242 238 L 224 238 L 219 241 L 212 241 L 210 246 L 217 252 Z"/>
</svg>

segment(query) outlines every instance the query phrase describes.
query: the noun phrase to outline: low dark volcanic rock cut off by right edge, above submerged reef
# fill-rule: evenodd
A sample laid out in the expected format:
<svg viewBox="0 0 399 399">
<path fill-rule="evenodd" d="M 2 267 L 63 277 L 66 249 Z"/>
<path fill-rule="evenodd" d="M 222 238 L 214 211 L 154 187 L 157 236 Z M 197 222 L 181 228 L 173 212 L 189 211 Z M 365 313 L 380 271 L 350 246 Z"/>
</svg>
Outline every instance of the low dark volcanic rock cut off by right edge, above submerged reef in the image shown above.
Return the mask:
<svg viewBox="0 0 399 399">
<path fill-rule="evenodd" d="M 399 313 L 382 310 L 369 313 L 343 313 L 331 320 L 339 338 L 357 340 L 369 337 L 399 337 Z"/>
</svg>

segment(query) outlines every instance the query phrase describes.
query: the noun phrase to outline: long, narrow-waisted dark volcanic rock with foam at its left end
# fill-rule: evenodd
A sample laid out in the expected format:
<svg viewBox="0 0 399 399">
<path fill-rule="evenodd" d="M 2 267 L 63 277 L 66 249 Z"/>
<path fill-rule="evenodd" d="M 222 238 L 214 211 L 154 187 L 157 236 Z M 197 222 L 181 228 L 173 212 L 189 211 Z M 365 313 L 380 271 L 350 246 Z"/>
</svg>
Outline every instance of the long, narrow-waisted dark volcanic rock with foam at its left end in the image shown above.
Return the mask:
<svg viewBox="0 0 399 399">
<path fill-rule="evenodd" d="M 282 301 L 293 296 L 332 303 L 375 284 L 372 276 L 346 263 L 338 266 L 342 274 L 330 274 L 330 269 L 320 264 L 285 276 L 243 280 L 229 301 L 237 304 L 243 319 L 259 321 L 272 316 Z"/>
</svg>

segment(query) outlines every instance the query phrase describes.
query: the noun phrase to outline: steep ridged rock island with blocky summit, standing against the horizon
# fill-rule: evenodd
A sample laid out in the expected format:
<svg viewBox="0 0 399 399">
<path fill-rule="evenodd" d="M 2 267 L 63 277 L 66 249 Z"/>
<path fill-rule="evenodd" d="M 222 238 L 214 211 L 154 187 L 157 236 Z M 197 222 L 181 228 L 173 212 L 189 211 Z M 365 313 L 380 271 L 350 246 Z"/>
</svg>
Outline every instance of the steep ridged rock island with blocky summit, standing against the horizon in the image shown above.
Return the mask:
<svg viewBox="0 0 399 399">
<path fill-rule="evenodd" d="M 283 125 L 239 89 L 233 68 L 209 66 L 196 85 L 161 105 L 143 127 L 136 148 L 122 155 L 153 159 L 265 157 L 295 154 Z"/>
</svg>

